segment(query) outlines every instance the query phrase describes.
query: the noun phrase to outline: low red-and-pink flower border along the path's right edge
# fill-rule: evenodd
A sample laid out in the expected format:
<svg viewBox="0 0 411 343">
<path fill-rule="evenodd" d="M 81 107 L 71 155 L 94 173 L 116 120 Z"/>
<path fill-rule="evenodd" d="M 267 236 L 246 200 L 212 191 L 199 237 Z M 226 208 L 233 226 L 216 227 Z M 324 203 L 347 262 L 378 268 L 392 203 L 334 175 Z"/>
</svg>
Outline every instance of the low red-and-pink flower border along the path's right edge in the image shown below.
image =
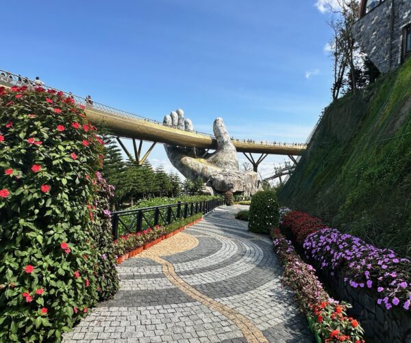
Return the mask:
<svg viewBox="0 0 411 343">
<path fill-rule="evenodd" d="M 284 264 L 282 281 L 297 294 L 301 311 L 314 323 L 312 329 L 323 342 L 363 343 L 364 331 L 357 320 L 347 316 L 348 303 L 338 303 L 329 297 L 314 268 L 304 263 L 290 241 L 278 229 L 272 233 L 274 247 Z"/>
</svg>

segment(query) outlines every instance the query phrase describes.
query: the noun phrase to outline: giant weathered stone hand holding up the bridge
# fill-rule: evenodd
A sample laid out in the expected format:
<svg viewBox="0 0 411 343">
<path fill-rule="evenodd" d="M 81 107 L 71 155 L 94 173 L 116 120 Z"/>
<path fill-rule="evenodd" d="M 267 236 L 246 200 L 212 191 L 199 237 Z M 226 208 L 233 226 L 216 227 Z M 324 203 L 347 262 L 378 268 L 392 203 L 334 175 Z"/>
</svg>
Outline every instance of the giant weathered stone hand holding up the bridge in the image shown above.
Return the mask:
<svg viewBox="0 0 411 343">
<path fill-rule="evenodd" d="M 193 131 L 190 119 L 184 120 L 183 110 L 176 110 L 164 117 L 164 124 L 173 128 Z M 254 171 L 240 171 L 236 147 L 225 128 L 224 121 L 217 118 L 213 125 L 217 149 L 209 154 L 196 147 L 164 145 L 166 154 L 175 168 L 186 178 L 201 178 L 208 193 L 242 192 L 256 193 L 259 188 L 258 174 Z"/>
</svg>

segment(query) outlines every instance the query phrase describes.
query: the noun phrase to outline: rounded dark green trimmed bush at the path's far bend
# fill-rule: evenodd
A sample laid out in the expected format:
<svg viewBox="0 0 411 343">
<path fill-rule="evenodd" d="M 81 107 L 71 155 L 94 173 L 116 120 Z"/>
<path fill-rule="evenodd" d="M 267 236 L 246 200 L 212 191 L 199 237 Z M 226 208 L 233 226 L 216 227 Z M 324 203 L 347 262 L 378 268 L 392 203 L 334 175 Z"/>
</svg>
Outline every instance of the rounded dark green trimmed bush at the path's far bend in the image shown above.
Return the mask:
<svg viewBox="0 0 411 343">
<path fill-rule="evenodd" d="M 254 233 L 269 233 L 278 225 L 277 195 L 273 190 L 258 191 L 251 199 L 249 230 Z"/>
</svg>

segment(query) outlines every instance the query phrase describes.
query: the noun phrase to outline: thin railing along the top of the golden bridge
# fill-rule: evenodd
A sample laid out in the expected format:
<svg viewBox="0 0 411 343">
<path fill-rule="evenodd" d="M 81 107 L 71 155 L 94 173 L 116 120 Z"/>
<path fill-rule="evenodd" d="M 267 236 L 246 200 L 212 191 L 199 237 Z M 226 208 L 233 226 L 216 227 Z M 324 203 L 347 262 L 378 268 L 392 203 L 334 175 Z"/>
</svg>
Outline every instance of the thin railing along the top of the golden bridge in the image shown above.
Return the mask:
<svg viewBox="0 0 411 343">
<path fill-rule="evenodd" d="M 0 85 L 6 86 L 6 87 L 12 87 L 12 86 L 27 86 L 28 88 L 34 88 L 36 86 L 38 86 L 38 84 L 36 84 L 36 80 L 30 80 L 29 78 L 23 78 L 21 75 L 16 75 L 14 73 L 10 73 L 9 71 L 4 71 L 0 69 L 0 74 L 3 73 L 4 75 L 0 76 Z M 144 121 L 149 121 L 151 123 L 155 123 L 158 125 L 162 125 L 162 126 L 169 126 L 166 125 L 164 123 L 161 123 L 160 121 L 155 121 L 153 119 L 148 119 L 145 117 L 141 117 L 140 115 L 136 115 L 134 113 L 129 113 L 126 112 L 124 110 L 119 110 L 117 108 L 113 108 L 104 104 L 100 104 L 98 102 L 92 102 L 92 104 L 90 104 L 86 98 L 84 97 L 79 97 L 78 95 L 73 95 L 71 93 L 67 93 L 65 91 L 60 91 L 56 88 L 53 88 L 51 86 L 46 86 L 46 85 L 41 85 L 42 88 L 45 89 L 52 89 L 53 91 L 57 91 L 57 92 L 62 92 L 64 95 L 67 96 L 71 96 L 73 97 L 73 99 L 75 99 L 75 102 L 77 102 L 77 104 L 81 104 L 86 106 L 86 108 L 88 108 L 89 110 L 93 110 L 93 111 L 101 111 L 102 113 L 105 114 L 109 114 L 109 115 L 114 115 L 116 117 L 122 117 L 122 118 L 126 118 L 126 119 L 139 119 L 139 120 L 144 120 Z M 170 127 L 170 126 L 169 126 Z M 212 137 L 214 138 L 214 136 L 212 134 L 208 134 L 208 133 L 204 133 L 204 132 L 198 132 L 198 131 L 190 131 L 190 130 L 186 130 L 186 129 L 182 129 L 182 128 L 177 128 L 177 130 L 183 130 L 186 132 L 195 132 L 196 134 L 201 134 L 203 136 L 207 136 L 207 137 Z M 304 144 L 301 143 L 279 143 L 279 142 L 268 142 L 268 141 L 253 141 L 250 139 L 232 139 L 233 141 L 238 141 L 238 142 L 242 142 L 242 143 L 252 143 L 252 144 L 256 144 L 256 145 L 274 145 L 274 146 L 279 146 L 279 147 L 305 147 Z"/>
</svg>

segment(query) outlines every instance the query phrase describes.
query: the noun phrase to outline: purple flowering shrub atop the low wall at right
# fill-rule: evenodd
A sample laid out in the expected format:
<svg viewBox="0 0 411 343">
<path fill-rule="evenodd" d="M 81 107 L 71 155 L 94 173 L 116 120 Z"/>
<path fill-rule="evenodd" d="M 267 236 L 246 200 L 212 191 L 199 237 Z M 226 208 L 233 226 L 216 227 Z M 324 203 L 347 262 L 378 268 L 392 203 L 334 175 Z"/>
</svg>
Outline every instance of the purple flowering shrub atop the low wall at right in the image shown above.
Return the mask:
<svg viewBox="0 0 411 343">
<path fill-rule="evenodd" d="M 303 244 L 308 257 L 321 268 L 340 270 L 354 288 L 373 288 L 379 293 L 377 303 L 386 309 L 411 303 L 410 260 L 398 257 L 393 250 L 379 249 L 358 237 L 325 228 L 306 238 Z"/>
</svg>

